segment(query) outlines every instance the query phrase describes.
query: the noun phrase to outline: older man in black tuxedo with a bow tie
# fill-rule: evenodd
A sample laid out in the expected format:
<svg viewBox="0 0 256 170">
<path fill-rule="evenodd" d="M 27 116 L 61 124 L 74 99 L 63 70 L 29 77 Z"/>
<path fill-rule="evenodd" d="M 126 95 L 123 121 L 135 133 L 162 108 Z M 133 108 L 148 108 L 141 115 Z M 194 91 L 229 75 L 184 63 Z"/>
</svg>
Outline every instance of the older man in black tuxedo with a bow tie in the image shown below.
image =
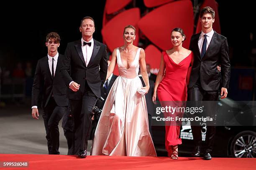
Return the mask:
<svg viewBox="0 0 256 170">
<path fill-rule="evenodd" d="M 69 87 L 67 96 L 74 118 L 74 154 L 85 158 L 92 126 L 91 111 L 97 98 L 100 98 L 108 62 L 106 45 L 92 38 L 94 20 L 84 17 L 79 30 L 82 38 L 68 43 L 61 73 Z"/>
</svg>

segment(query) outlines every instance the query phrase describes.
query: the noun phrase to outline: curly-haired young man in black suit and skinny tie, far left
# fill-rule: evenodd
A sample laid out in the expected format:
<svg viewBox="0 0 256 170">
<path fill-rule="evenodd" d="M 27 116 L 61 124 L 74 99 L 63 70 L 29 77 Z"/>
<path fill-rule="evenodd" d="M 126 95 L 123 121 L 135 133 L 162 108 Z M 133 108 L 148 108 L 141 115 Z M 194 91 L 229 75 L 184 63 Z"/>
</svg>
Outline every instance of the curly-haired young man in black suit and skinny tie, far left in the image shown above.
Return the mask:
<svg viewBox="0 0 256 170">
<path fill-rule="evenodd" d="M 32 87 L 32 117 L 38 119 L 38 99 L 43 93 L 44 126 L 49 154 L 59 154 L 58 124 L 67 112 L 67 86 L 61 76 L 63 55 L 57 49 L 60 37 L 56 32 L 46 36 L 48 55 L 38 60 Z"/>
</svg>

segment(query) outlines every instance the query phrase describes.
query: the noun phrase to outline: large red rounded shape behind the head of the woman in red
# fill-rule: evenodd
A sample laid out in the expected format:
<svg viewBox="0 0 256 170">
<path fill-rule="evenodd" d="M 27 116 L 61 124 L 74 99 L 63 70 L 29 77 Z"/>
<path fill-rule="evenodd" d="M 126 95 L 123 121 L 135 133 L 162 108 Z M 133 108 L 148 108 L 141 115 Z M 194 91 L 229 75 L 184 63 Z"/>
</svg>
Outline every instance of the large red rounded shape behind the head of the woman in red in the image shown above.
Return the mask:
<svg viewBox="0 0 256 170">
<path fill-rule="evenodd" d="M 194 28 L 194 12 L 190 0 L 170 2 L 145 15 L 138 22 L 141 32 L 162 50 L 172 48 L 171 31 L 182 28 L 187 40 L 183 47 L 188 48 Z"/>
</svg>

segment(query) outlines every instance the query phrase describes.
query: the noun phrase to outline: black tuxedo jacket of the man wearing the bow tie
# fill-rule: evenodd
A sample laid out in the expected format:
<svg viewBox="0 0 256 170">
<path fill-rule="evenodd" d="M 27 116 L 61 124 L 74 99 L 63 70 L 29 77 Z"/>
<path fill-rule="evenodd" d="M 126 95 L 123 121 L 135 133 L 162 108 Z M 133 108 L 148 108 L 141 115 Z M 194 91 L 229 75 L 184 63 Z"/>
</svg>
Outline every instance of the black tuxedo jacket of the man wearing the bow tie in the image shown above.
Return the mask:
<svg viewBox="0 0 256 170">
<path fill-rule="evenodd" d="M 85 80 L 87 80 L 92 92 L 100 98 L 100 87 L 105 82 L 107 70 L 108 62 L 105 44 L 94 40 L 92 57 L 86 67 L 82 53 L 81 40 L 69 42 L 64 54 L 64 64 L 61 73 L 68 87 L 69 83 L 72 81 L 77 82 L 80 87 L 77 92 L 68 89 L 68 98 L 73 100 L 82 99 Z"/>
</svg>

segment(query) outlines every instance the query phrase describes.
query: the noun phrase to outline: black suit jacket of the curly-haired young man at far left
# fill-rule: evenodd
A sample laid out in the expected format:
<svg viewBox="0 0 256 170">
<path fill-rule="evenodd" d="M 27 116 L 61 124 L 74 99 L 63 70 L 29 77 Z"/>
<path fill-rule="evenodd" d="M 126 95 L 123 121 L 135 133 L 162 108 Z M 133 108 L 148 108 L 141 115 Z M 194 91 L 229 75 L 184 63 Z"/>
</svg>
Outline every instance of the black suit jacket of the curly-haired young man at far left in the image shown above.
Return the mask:
<svg viewBox="0 0 256 170">
<path fill-rule="evenodd" d="M 43 94 L 42 106 L 46 107 L 51 94 L 54 95 L 54 100 L 58 106 L 67 106 L 67 86 L 61 76 L 61 66 L 64 56 L 59 54 L 54 78 L 51 77 L 49 68 L 48 56 L 38 60 L 34 75 L 32 87 L 32 106 L 38 106 L 40 94 Z"/>
</svg>

